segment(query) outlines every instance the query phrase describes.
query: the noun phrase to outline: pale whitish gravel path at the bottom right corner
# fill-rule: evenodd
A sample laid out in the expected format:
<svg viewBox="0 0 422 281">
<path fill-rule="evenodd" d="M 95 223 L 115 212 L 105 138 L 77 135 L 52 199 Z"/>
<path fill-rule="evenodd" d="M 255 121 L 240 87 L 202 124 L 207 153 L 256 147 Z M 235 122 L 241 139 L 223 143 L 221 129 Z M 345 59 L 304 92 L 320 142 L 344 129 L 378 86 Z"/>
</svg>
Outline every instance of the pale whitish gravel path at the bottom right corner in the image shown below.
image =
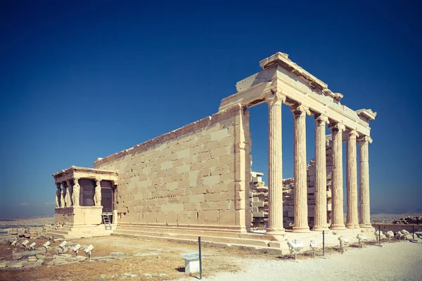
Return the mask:
<svg viewBox="0 0 422 281">
<path fill-rule="evenodd" d="M 203 280 L 422 280 L 422 240 L 383 247 L 347 248 L 327 259 L 267 261 L 242 259 L 240 273 L 219 273 Z M 206 269 L 205 269 L 206 270 Z"/>
</svg>

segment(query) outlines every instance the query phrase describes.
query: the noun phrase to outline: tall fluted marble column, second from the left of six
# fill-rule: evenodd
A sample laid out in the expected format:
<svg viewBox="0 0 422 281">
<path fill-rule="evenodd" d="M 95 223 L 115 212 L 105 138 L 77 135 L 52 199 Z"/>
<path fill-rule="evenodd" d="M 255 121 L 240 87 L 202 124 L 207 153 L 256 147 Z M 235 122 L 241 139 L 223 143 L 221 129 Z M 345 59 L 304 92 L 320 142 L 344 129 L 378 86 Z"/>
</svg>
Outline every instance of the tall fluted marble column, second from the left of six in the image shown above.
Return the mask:
<svg viewBox="0 0 422 281">
<path fill-rule="evenodd" d="M 293 232 L 309 232 L 307 209 L 307 161 L 306 161 L 306 114 L 309 112 L 303 105 L 290 107 L 294 119 L 294 171 L 295 171 L 295 206 Z"/>
</svg>

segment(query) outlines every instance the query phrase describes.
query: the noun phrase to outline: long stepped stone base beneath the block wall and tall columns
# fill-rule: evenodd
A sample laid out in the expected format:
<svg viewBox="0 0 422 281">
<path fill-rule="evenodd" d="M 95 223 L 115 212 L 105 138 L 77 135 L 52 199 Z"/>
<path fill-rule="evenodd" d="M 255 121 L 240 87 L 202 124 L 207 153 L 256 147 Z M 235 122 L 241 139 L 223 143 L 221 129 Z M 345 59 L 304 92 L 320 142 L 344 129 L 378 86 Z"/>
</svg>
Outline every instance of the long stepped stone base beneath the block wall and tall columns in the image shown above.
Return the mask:
<svg viewBox="0 0 422 281">
<path fill-rule="evenodd" d="M 326 247 L 338 246 L 338 237 L 346 235 L 350 243 L 357 243 L 357 234 L 364 233 L 368 240 L 375 240 L 373 228 L 357 228 L 347 230 L 329 230 L 325 233 Z M 203 230 L 191 228 L 169 228 L 158 226 L 130 226 L 119 225 L 112 235 L 148 240 L 166 240 L 174 242 L 192 243 L 198 242 L 198 236 L 206 246 L 236 248 L 270 254 L 289 254 L 288 240 L 300 239 L 304 244 L 303 251 L 309 250 L 310 240 L 316 240 L 322 248 L 322 232 L 311 231 L 310 233 L 293 233 L 286 230 L 284 235 L 267 235 L 264 231 L 250 231 L 248 233 L 225 232 L 222 230 Z"/>
</svg>

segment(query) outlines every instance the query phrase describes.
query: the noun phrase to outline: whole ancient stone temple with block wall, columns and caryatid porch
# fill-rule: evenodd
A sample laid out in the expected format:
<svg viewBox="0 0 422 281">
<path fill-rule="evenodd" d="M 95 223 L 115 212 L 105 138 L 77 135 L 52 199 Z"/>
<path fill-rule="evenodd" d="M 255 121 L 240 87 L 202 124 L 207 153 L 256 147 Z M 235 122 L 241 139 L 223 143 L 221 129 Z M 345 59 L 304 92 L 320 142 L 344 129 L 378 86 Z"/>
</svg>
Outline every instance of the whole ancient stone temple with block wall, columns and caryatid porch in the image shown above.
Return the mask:
<svg viewBox="0 0 422 281">
<path fill-rule="evenodd" d="M 276 241 L 311 230 L 372 230 L 369 121 L 376 113 L 343 105 L 341 93 L 328 89 L 285 53 L 271 55 L 260 66 L 260 72 L 236 84 L 237 93 L 224 98 L 214 115 L 98 158 L 94 169 L 72 166 L 54 174 L 56 235 L 77 233 L 82 226 L 101 228 L 104 214 L 112 216 L 113 235 L 183 240 L 201 235 L 205 241 L 259 247 L 279 247 Z M 251 231 L 250 183 L 258 175 L 251 172 L 248 108 L 262 103 L 269 109 L 268 215 L 265 233 L 257 233 Z M 283 106 L 290 107 L 294 117 L 292 203 L 291 210 L 284 212 L 292 217 L 287 224 L 283 219 L 287 207 L 283 205 Z M 309 117 L 314 118 L 316 129 L 312 169 L 306 155 L 305 120 Z M 332 132 L 329 139 L 326 126 Z M 327 140 L 331 142 L 329 165 Z M 347 142 L 345 153 L 343 141 Z M 347 159 L 345 221 L 343 157 Z M 309 188 L 313 188 L 311 209 Z"/>
</svg>

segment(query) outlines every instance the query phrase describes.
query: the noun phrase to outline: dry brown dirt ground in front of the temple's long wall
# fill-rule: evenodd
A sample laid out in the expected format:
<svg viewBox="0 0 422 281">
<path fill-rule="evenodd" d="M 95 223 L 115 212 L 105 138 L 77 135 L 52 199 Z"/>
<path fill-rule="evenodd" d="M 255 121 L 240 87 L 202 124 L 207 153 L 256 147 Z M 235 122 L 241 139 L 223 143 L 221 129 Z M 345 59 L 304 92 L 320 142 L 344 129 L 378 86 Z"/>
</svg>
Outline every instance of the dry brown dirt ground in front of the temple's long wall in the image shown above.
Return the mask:
<svg viewBox="0 0 422 281">
<path fill-rule="evenodd" d="M 37 246 L 46 240 L 37 239 Z M 51 240 L 50 240 L 51 241 Z M 32 242 L 32 241 L 31 241 Z M 19 270 L 0 270 L 0 280 L 177 280 L 186 277 L 184 273 L 184 259 L 182 253 L 198 251 L 197 244 L 181 244 L 157 240 L 143 240 L 126 237 L 96 237 L 77 239 L 68 242 L 79 244 L 93 244 L 93 259 L 99 256 L 109 256 L 112 252 L 124 252 L 126 259 L 115 261 L 79 261 L 56 266 L 49 266 L 53 258 L 53 250 L 49 250 L 44 265 L 39 268 L 22 268 Z M 52 242 L 56 247 L 60 242 Z M 371 242 L 365 247 L 373 247 Z M 350 248 L 357 248 L 351 245 Z M 8 244 L 0 245 L 0 259 L 11 259 L 12 247 Z M 340 252 L 338 248 L 326 249 L 326 255 Z M 72 254 L 69 251 L 68 254 Z M 73 255 L 73 254 L 72 254 Z M 84 255 L 79 251 L 79 256 Z M 321 251 L 319 251 L 321 255 Z M 237 273 L 245 270 L 248 259 L 267 261 L 293 260 L 293 255 L 279 256 L 276 254 L 256 254 L 251 251 L 238 249 L 220 249 L 203 247 L 203 277 L 215 277 L 219 273 Z M 301 253 L 300 259 L 313 259 L 312 253 Z M 193 277 L 198 277 L 194 274 Z"/>
</svg>

